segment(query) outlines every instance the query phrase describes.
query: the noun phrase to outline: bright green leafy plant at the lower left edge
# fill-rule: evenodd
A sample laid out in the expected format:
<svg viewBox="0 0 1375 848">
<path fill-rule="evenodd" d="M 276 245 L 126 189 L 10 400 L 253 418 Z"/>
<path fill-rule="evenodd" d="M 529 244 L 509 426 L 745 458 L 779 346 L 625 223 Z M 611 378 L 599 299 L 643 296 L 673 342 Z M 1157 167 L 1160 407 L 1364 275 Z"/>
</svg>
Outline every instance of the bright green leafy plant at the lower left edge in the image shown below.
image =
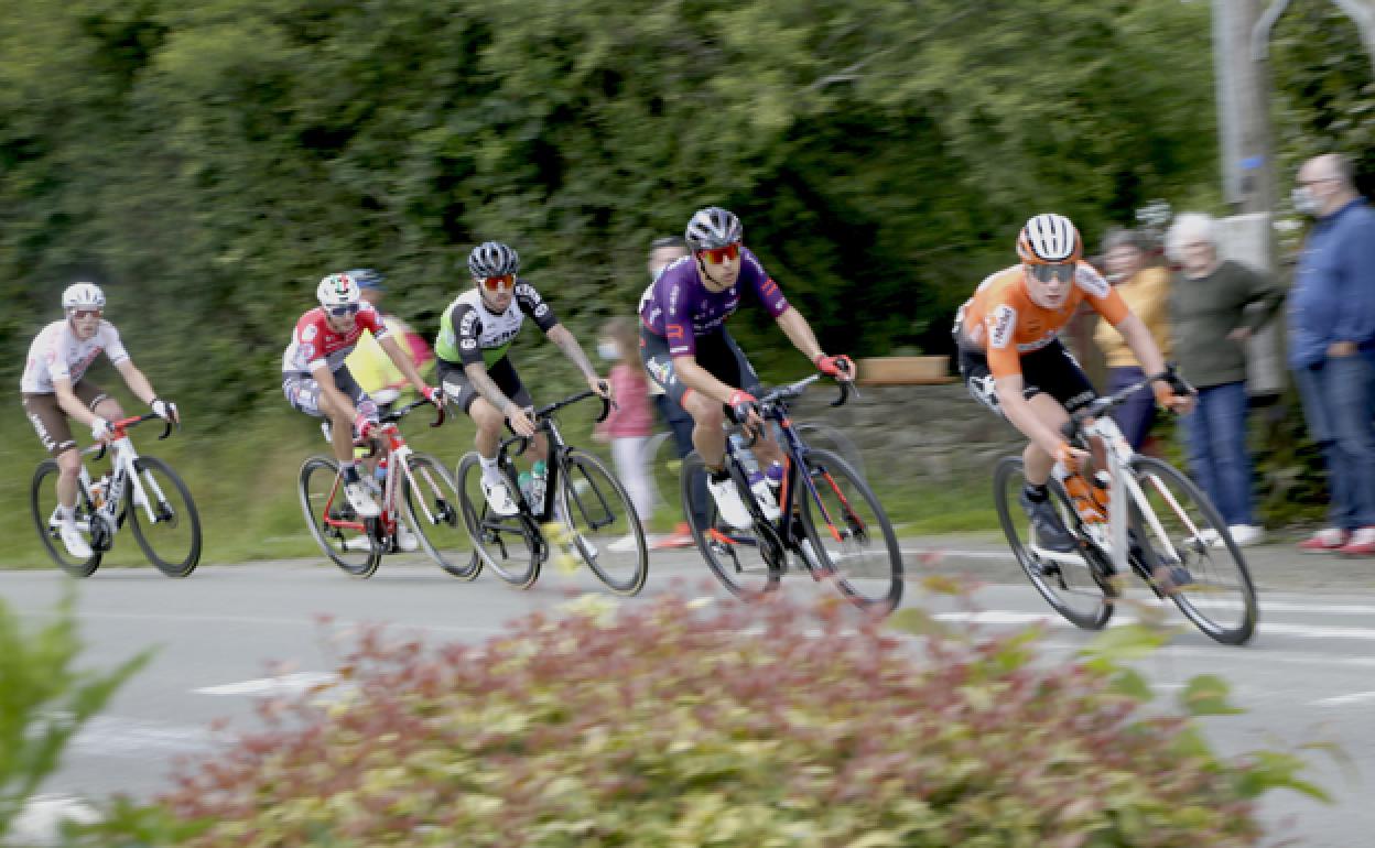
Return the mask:
<svg viewBox="0 0 1375 848">
<path fill-rule="evenodd" d="M 66 594 L 54 617 L 32 632 L 0 598 L 0 840 L 56 771 L 72 737 L 150 657 L 143 653 L 109 672 L 73 668 L 81 653 L 73 598 Z"/>
</svg>

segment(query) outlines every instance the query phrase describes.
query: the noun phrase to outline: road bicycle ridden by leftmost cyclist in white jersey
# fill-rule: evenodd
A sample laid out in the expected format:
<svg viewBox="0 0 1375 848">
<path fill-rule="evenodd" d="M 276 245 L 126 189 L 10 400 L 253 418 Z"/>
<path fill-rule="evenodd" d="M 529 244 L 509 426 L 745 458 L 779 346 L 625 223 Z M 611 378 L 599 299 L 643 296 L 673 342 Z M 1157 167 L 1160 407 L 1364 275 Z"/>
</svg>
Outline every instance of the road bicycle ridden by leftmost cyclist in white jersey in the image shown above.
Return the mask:
<svg viewBox="0 0 1375 848">
<path fill-rule="evenodd" d="M 91 546 L 88 559 L 69 554 L 58 532 L 58 460 L 38 463 L 30 489 L 33 522 L 48 554 L 73 577 L 95 573 L 125 520 L 143 555 L 168 577 L 186 577 L 199 564 L 201 515 L 190 489 L 166 462 L 140 456 L 129 437 L 132 427 L 154 419 L 162 421 L 148 412 L 110 422 L 110 437 L 81 451 L 82 456 L 95 455 L 96 462 L 110 455 L 110 471 L 98 481 L 81 465 L 76 525 Z M 172 434 L 172 422 L 165 423 L 160 440 Z"/>
</svg>

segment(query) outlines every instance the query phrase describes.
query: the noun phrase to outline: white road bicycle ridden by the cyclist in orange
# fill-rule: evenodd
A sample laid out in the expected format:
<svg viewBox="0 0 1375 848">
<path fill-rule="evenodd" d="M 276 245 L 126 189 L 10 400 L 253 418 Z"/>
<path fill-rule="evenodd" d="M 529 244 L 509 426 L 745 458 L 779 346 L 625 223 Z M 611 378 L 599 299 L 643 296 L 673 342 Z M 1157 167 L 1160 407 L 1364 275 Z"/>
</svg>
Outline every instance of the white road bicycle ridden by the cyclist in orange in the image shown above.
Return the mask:
<svg viewBox="0 0 1375 848">
<path fill-rule="evenodd" d="M 1050 606 L 1077 627 L 1099 629 L 1112 617 L 1125 576 L 1136 573 L 1156 598 L 1169 598 L 1207 636 L 1243 645 L 1255 632 L 1255 587 L 1242 550 L 1199 487 L 1163 459 L 1132 451 L 1107 412 L 1152 379 L 1177 379 L 1173 368 L 1116 394 L 1077 410 L 1064 425 L 1070 443 L 1084 449 L 1101 445 L 1100 466 L 1089 480 L 1107 473 L 1107 521 L 1086 522 L 1072 507 L 1063 484 L 1052 478 L 1052 502 L 1078 543 L 1057 553 L 1040 547 L 1018 503 L 1026 485 L 1020 456 L 994 469 L 994 500 L 1002 532 L 1031 584 Z"/>
</svg>

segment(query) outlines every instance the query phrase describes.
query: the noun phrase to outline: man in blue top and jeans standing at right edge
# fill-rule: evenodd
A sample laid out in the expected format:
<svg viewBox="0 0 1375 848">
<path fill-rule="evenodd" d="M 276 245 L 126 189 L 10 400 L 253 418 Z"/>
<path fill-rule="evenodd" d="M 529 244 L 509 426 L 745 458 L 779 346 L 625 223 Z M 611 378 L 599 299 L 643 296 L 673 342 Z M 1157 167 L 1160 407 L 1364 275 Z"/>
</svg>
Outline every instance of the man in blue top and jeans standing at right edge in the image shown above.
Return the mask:
<svg viewBox="0 0 1375 848">
<path fill-rule="evenodd" d="M 1375 210 L 1356 191 L 1350 159 L 1341 154 L 1299 168 L 1294 208 L 1317 221 L 1288 297 L 1288 361 L 1332 491 L 1330 526 L 1299 548 L 1372 555 Z"/>
</svg>

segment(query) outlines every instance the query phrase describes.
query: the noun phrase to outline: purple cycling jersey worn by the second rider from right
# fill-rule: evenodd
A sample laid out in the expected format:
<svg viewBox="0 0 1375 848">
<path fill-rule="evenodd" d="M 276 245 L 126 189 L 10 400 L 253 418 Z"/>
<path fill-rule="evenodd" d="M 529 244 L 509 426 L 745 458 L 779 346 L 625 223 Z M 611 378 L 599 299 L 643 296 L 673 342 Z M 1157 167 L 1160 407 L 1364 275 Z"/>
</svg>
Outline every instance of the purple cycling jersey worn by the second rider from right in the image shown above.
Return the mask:
<svg viewBox="0 0 1375 848">
<path fill-rule="evenodd" d="M 697 352 L 697 338 L 719 330 L 740 308 L 742 291 L 754 291 L 774 317 L 788 309 L 778 283 L 769 279 L 759 257 L 748 247 L 740 249 L 740 276 L 725 291 L 708 291 L 697 276 L 697 260 L 685 256 L 664 268 L 645 290 L 639 319 L 650 333 L 668 339 L 670 356 L 692 356 Z"/>
</svg>

